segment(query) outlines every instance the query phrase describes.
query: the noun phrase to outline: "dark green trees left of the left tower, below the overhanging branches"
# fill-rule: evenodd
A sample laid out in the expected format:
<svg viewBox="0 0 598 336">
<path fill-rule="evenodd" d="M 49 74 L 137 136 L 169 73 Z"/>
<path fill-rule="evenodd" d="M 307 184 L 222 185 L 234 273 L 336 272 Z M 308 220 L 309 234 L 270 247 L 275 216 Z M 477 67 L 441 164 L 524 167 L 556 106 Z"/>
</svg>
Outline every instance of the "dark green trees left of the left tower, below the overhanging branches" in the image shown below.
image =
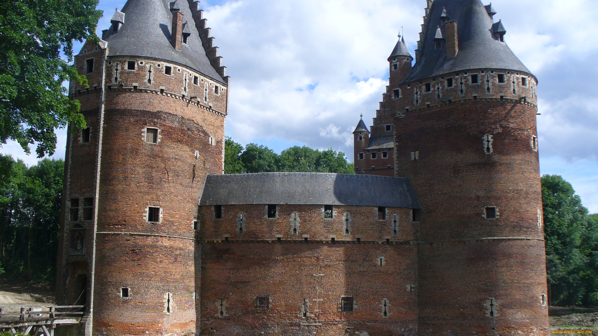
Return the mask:
<svg viewBox="0 0 598 336">
<path fill-rule="evenodd" d="M 63 160 L 27 167 L 9 155 L 10 173 L 0 180 L 0 264 L 5 275 L 52 281 L 62 200 Z"/>
</svg>

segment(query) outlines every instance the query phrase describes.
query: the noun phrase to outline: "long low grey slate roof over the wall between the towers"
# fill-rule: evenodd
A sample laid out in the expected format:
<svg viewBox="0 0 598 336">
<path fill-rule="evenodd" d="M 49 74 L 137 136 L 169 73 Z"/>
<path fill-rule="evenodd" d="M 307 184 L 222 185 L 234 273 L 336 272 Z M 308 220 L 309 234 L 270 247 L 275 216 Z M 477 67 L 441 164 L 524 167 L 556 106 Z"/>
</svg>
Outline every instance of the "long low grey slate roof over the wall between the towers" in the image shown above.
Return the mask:
<svg viewBox="0 0 598 336">
<path fill-rule="evenodd" d="M 420 208 L 407 178 L 332 173 L 208 175 L 199 205 L 226 204 Z"/>
</svg>

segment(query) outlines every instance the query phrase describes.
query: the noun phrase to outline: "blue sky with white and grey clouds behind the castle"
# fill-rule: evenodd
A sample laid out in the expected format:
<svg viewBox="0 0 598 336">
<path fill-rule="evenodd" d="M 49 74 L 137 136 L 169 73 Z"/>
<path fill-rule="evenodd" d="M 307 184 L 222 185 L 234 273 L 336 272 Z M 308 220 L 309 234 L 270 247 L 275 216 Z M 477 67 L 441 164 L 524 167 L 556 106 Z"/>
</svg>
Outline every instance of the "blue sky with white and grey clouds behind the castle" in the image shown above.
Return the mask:
<svg viewBox="0 0 598 336">
<path fill-rule="evenodd" d="M 588 10 L 594 1 L 492 5 L 507 44 L 539 80 L 541 173 L 562 175 L 596 213 L 598 21 Z M 108 28 L 124 2 L 100 0 L 104 17 L 97 32 Z M 276 152 L 307 145 L 343 151 L 353 160 L 359 114 L 370 126 L 399 32 L 414 54 L 425 1 L 207 0 L 201 7 L 231 77 L 226 134 Z M 57 136 L 54 157 L 64 157 L 66 131 Z M 14 142 L 0 151 L 29 165 L 37 161 Z"/>
</svg>

